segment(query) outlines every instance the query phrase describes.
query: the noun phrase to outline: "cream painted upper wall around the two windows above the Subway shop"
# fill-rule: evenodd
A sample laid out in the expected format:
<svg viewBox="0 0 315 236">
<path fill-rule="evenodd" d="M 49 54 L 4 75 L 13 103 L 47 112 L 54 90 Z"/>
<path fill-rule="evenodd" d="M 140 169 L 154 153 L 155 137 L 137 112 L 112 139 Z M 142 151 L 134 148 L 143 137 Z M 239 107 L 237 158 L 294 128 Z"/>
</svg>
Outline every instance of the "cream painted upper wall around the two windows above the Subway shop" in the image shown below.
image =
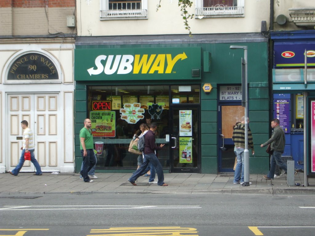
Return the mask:
<svg viewBox="0 0 315 236">
<path fill-rule="evenodd" d="M 100 20 L 100 1 L 77 1 L 78 36 L 187 34 L 177 0 L 148 0 L 147 20 Z M 261 32 L 261 21 L 269 27 L 269 0 L 245 0 L 245 17 L 191 19 L 193 34 Z M 195 5 L 189 9 L 195 13 Z"/>
</svg>

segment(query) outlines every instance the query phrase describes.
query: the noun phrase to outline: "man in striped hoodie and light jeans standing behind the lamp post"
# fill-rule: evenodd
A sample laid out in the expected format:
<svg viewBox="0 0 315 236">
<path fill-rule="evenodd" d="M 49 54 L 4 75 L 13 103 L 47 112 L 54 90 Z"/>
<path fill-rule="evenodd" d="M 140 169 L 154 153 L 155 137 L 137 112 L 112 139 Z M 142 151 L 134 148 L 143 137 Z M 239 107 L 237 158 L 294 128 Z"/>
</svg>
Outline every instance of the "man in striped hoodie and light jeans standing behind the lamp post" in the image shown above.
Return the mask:
<svg viewBox="0 0 315 236">
<path fill-rule="evenodd" d="M 243 116 L 242 122 L 238 123 L 233 129 L 232 140 L 234 142 L 236 154 L 237 154 L 237 164 L 235 167 L 234 180 L 233 180 L 234 184 L 244 183 L 245 119 L 246 119 L 246 122 L 249 123 L 249 118 Z M 249 126 L 248 126 L 248 147 L 252 149 L 252 153 L 254 155 L 255 151 L 254 151 L 253 137 L 252 137 L 252 132 L 249 129 Z M 252 184 L 252 183 L 249 182 L 249 184 Z"/>
</svg>

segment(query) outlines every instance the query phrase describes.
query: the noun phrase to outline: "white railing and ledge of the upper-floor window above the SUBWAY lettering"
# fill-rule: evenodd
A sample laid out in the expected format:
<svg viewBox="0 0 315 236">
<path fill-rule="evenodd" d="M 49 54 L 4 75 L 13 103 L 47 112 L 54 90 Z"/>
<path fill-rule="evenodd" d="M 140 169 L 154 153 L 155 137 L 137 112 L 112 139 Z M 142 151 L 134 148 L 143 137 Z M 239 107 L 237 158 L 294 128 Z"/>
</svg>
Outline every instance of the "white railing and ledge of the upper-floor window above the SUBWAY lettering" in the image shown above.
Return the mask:
<svg viewBox="0 0 315 236">
<path fill-rule="evenodd" d="M 146 17 L 147 10 L 142 9 L 141 1 L 110 2 L 108 10 L 101 10 L 101 18 Z"/>
</svg>

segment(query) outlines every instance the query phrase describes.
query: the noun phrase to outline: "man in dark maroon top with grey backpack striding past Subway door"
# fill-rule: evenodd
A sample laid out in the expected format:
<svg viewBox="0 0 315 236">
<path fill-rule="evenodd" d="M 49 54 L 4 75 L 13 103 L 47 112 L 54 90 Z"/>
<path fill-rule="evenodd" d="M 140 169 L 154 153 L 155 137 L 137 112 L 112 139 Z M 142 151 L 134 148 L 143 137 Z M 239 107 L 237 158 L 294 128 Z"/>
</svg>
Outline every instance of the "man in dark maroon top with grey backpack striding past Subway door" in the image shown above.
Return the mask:
<svg viewBox="0 0 315 236">
<path fill-rule="evenodd" d="M 155 155 L 155 150 L 161 150 L 164 146 L 164 144 L 161 144 L 160 146 L 157 146 L 155 144 L 155 137 L 154 137 L 154 132 L 157 130 L 157 124 L 155 122 L 151 123 L 150 125 L 150 130 L 148 132 L 146 132 L 145 135 L 145 144 L 144 144 L 144 151 L 143 151 L 143 155 L 144 155 L 144 159 L 143 159 L 143 163 L 140 166 L 139 169 L 137 169 L 135 171 L 135 173 L 128 179 L 128 181 L 132 184 L 132 185 L 137 185 L 135 183 L 135 180 L 143 175 L 143 172 L 146 171 L 147 166 L 149 165 L 149 162 L 151 162 L 153 164 L 153 166 L 156 169 L 157 172 L 157 185 L 160 186 L 168 186 L 168 184 L 164 183 L 164 174 L 163 174 L 163 168 L 162 165 L 160 163 L 160 161 L 157 159 L 157 156 Z"/>
</svg>

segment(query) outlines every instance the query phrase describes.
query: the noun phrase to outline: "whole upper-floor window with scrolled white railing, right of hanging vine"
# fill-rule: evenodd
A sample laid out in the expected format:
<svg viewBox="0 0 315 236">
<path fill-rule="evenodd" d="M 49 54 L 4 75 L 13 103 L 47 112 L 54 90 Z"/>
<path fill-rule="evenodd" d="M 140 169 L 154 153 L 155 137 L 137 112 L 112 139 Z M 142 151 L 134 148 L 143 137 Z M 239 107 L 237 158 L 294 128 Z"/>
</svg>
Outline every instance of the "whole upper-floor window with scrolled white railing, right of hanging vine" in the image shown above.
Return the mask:
<svg viewBox="0 0 315 236">
<path fill-rule="evenodd" d="M 244 0 L 196 0 L 196 16 L 244 16 Z"/>
</svg>

